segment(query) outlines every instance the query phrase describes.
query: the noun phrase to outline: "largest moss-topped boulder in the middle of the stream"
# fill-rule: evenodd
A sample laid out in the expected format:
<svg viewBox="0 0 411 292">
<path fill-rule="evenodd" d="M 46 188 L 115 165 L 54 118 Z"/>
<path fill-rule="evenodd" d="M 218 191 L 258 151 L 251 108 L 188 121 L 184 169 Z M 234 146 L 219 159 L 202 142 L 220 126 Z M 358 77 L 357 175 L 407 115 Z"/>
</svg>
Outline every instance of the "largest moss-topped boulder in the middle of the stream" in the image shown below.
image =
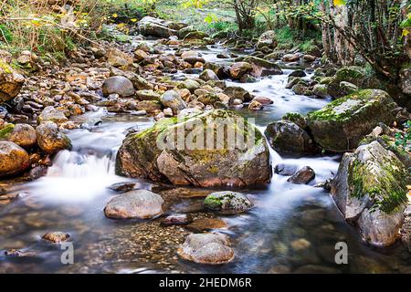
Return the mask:
<svg viewBox="0 0 411 292">
<path fill-rule="evenodd" d="M 200 187 L 268 183 L 271 176 L 264 137 L 227 110 L 159 120 L 129 135 L 116 168 L 131 177 Z"/>
</svg>

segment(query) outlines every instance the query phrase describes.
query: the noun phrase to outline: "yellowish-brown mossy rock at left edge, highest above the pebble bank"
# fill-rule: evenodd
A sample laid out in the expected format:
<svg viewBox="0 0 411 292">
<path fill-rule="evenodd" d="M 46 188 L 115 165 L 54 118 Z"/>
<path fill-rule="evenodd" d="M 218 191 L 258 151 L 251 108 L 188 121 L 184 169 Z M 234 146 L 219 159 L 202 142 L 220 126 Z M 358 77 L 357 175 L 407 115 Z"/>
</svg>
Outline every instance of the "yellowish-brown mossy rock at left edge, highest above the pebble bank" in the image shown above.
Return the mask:
<svg viewBox="0 0 411 292">
<path fill-rule="evenodd" d="M 0 59 L 0 102 L 16 98 L 25 78 Z"/>
</svg>

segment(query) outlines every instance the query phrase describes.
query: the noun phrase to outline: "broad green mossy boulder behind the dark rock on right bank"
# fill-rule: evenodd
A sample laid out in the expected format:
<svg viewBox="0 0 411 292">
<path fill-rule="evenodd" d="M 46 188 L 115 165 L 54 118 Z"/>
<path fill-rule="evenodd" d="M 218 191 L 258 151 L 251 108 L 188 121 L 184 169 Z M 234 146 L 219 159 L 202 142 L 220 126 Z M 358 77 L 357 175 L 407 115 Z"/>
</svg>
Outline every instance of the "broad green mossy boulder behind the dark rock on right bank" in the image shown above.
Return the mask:
<svg viewBox="0 0 411 292">
<path fill-rule="evenodd" d="M 308 124 L 314 140 L 323 149 L 347 151 L 354 149 L 378 122 L 391 124 L 396 107 L 385 91 L 364 89 L 309 112 Z"/>
</svg>

